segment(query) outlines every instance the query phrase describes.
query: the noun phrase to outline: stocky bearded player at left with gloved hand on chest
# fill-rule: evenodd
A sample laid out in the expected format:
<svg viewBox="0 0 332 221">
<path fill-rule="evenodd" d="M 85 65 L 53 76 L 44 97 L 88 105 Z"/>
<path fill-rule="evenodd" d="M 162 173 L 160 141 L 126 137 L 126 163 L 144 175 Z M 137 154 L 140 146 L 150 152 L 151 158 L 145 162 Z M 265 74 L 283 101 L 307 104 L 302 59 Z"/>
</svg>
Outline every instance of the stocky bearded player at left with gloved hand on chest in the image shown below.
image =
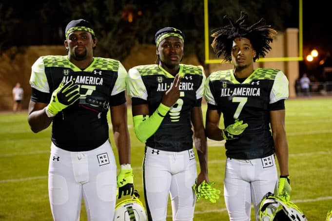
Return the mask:
<svg viewBox="0 0 332 221">
<path fill-rule="evenodd" d="M 134 193 L 130 165 L 125 79 L 114 59 L 93 56 L 97 37 L 90 22 L 70 21 L 65 56 L 41 56 L 32 66 L 28 122 L 37 133 L 52 123 L 48 171 L 53 219 L 79 220 L 84 199 L 89 221 L 113 221 L 118 198 Z M 121 165 L 109 140 L 107 112 Z"/>
</svg>

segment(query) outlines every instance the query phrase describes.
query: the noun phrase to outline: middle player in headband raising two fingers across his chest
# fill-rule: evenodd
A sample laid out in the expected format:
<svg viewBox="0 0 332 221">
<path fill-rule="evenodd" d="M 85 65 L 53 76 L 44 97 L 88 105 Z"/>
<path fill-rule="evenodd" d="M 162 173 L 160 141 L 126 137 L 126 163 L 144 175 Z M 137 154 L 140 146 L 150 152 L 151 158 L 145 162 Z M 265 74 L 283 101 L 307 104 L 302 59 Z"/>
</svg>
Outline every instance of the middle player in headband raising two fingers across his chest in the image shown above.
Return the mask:
<svg viewBox="0 0 332 221">
<path fill-rule="evenodd" d="M 128 72 L 134 130 L 145 142 L 143 188 L 149 221 L 166 221 L 169 194 L 173 220 L 192 221 L 195 200 L 205 198 L 215 203 L 220 193 L 208 179 L 201 110 L 205 75 L 199 67 L 180 64 L 184 39 L 179 29 L 160 29 L 155 35 L 156 64 L 133 67 Z M 211 190 L 208 193 L 198 191 L 207 188 Z"/>
</svg>

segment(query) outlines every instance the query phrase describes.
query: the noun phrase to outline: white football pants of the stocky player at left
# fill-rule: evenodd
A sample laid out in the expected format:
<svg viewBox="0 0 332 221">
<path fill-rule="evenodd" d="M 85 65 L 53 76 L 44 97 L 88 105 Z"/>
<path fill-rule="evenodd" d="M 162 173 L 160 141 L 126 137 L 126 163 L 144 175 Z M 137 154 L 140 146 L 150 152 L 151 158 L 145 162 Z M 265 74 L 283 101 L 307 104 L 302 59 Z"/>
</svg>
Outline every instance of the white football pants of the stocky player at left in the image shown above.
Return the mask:
<svg viewBox="0 0 332 221">
<path fill-rule="evenodd" d="M 113 221 L 117 166 L 109 141 L 82 152 L 52 143 L 48 192 L 55 221 L 78 221 L 82 197 L 89 221 Z"/>
</svg>

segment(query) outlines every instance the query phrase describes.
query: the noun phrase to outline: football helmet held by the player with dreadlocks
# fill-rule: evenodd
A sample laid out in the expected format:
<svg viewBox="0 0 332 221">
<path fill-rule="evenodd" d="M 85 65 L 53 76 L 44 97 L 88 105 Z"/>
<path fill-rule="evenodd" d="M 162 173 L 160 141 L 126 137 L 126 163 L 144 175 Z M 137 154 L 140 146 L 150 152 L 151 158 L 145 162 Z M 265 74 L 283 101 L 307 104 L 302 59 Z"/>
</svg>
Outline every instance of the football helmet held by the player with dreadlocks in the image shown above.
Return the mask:
<svg viewBox="0 0 332 221">
<path fill-rule="evenodd" d="M 292 202 L 268 192 L 259 207 L 260 221 L 307 221 L 303 212 Z"/>
</svg>

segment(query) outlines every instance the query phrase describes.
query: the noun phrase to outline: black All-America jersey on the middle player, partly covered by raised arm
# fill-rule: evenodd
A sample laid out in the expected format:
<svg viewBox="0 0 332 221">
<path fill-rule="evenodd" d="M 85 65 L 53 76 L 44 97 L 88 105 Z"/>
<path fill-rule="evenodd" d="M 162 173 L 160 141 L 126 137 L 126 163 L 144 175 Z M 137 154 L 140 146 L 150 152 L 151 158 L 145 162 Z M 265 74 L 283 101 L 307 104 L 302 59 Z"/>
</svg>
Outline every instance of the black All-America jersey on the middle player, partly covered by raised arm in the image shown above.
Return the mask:
<svg viewBox="0 0 332 221">
<path fill-rule="evenodd" d="M 180 65 L 182 76 L 180 97 L 164 117 L 146 146 L 166 150 L 183 151 L 193 148 L 191 110 L 201 105 L 205 76 L 202 69 L 193 65 Z M 128 72 L 127 91 L 132 105 L 148 104 L 150 115 L 161 102 L 162 95 L 171 87 L 174 76 L 157 65 L 141 65 Z"/>
</svg>

